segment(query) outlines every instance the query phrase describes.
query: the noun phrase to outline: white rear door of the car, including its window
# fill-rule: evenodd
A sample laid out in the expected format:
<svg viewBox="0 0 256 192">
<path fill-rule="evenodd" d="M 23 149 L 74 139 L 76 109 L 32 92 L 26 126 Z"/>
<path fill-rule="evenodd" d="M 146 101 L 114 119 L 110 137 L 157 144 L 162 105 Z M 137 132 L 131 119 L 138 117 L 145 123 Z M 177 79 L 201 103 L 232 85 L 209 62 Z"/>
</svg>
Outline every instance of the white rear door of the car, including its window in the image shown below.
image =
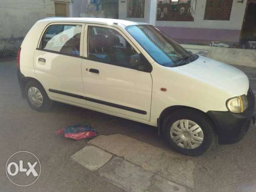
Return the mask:
<svg viewBox="0 0 256 192">
<path fill-rule="evenodd" d="M 51 23 L 34 53 L 35 75 L 54 100 L 85 105 L 83 23 Z"/>
</svg>

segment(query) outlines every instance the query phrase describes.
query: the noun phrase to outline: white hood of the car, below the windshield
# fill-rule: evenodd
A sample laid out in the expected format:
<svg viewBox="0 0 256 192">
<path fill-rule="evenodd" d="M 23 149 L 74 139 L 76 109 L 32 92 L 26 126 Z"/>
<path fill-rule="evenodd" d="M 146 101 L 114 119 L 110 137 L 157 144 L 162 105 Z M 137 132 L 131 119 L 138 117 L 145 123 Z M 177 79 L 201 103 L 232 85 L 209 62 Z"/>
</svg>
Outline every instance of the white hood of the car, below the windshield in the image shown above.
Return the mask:
<svg viewBox="0 0 256 192">
<path fill-rule="evenodd" d="M 231 97 L 246 95 L 249 89 L 248 77 L 241 70 L 207 57 L 199 56 L 187 65 L 173 68 L 223 90 Z"/>
</svg>

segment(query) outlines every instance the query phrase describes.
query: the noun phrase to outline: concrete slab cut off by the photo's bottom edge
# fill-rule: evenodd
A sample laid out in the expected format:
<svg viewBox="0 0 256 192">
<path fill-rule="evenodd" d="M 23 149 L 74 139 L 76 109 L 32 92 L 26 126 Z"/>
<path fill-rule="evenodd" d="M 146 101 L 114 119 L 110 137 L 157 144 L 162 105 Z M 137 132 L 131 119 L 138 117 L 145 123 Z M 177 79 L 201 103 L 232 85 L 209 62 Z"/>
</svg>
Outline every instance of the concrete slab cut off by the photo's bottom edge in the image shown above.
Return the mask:
<svg viewBox="0 0 256 192">
<path fill-rule="evenodd" d="M 98 170 L 100 177 L 127 192 L 186 192 L 177 185 L 119 157 Z"/>
</svg>

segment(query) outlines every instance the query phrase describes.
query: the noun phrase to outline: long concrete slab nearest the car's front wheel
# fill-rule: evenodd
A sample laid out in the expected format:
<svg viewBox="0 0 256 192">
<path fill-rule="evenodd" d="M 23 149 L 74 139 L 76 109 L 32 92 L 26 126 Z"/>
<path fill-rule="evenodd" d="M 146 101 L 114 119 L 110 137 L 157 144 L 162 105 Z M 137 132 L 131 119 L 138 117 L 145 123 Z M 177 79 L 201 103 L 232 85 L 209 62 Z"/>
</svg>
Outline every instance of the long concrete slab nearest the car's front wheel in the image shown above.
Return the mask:
<svg viewBox="0 0 256 192">
<path fill-rule="evenodd" d="M 99 135 L 89 143 L 161 177 L 193 188 L 194 164 L 183 155 L 120 134 Z"/>
</svg>

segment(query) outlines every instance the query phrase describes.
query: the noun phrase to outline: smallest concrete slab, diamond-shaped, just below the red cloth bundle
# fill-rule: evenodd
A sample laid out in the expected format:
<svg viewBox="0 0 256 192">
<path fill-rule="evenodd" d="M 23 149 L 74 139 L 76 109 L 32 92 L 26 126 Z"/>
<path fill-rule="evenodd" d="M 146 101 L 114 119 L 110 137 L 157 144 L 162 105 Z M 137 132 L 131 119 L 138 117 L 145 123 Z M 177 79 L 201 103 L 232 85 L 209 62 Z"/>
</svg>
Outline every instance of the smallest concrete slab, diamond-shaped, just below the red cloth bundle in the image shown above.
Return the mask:
<svg viewBox="0 0 256 192">
<path fill-rule="evenodd" d="M 105 165 L 112 155 L 95 146 L 86 146 L 80 151 L 71 156 L 71 159 L 80 165 L 83 165 L 88 170 L 98 170 Z"/>
</svg>

